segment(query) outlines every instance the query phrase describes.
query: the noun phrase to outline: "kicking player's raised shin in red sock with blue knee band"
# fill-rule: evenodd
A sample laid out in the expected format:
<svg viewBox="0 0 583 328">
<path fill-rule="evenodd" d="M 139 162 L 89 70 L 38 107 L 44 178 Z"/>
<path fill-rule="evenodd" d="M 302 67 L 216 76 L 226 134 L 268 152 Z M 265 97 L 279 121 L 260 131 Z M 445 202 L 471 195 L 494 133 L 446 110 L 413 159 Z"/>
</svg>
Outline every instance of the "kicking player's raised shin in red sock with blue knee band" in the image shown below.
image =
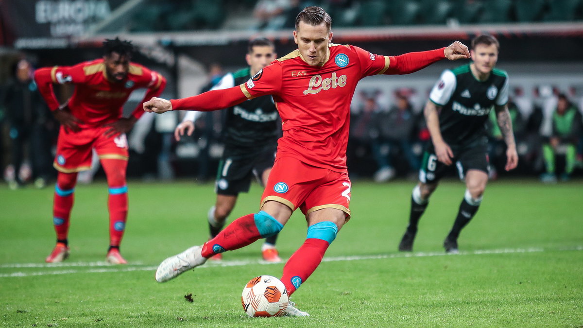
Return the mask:
<svg viewBox="0 0 583 328">
<path fill-rule="evenodd" d="M 283 225 L 265 211 L 245 215 L 231 222 L 215 238 L 206 242 L 202 246 L 202 256 L 209 258 L 226 250 L 239 249 L 282 229 Z"/>
</svg>

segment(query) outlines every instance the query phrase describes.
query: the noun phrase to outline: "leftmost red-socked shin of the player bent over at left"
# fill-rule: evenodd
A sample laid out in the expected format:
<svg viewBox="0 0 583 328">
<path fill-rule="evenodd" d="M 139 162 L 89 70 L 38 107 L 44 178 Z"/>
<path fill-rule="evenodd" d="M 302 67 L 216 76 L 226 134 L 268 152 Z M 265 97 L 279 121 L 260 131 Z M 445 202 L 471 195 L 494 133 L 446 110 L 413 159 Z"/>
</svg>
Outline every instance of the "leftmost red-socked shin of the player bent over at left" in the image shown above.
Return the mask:
<svg viewBox="0 0 583 328">
<path fill-rule="evenodd" d="M 52 222 L 57 232 L 57 242 L 67 245 L 69 233 L 69 217 L 75 200 L 75 183 L 77 173 L 62 173 L 57 176 L 55 194 L 52 204 Z"/>
</svg>

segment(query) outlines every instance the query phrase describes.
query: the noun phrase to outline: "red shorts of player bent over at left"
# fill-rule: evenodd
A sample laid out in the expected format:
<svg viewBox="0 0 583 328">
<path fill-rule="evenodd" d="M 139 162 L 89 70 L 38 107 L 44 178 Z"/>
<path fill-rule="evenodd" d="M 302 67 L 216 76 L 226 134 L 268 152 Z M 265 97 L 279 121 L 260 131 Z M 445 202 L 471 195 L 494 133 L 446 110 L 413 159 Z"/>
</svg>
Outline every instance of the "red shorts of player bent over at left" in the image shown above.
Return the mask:
<svg viewBox="0 0 583 328">
<path fill-rule="evenodd" d="M 128 160 L 128 139 L 125 134 L 106 138 L 110 127 L 82 128 L 79 132 L 59 130 L 57 156 L 52 166 L 59 172 L 73 173 L 91 168 L 92 149 L 101 159 Z"/>
</svg>

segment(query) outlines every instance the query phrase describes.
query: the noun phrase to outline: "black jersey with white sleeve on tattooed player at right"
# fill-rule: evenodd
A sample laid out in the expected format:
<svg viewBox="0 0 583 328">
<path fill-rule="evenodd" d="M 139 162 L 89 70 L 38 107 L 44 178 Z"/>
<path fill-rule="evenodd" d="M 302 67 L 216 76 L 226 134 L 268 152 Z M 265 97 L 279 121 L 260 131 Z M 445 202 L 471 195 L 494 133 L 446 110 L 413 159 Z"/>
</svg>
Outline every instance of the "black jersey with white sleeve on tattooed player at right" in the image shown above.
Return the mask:
<svg viewBox="0 0 583 328">
<path fill-rule="evenodd" d="M 508 102 L 508 74 L 494 68 L 486 81 L 472 74 L 470 65 L 446 69 L 431 89 L 429 100 L 442 107 L 441 135 L 448 145 L 486 142 L 486 121 L 494 105 Z"/>
</svg>

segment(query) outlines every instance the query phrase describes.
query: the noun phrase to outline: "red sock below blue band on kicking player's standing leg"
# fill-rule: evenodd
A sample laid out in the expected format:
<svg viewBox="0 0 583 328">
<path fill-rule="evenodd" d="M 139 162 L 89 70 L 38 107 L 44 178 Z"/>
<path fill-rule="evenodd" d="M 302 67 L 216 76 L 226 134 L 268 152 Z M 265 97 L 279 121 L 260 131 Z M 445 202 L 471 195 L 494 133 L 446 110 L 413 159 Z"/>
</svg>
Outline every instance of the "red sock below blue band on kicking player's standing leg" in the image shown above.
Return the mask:
<svg viewBox="0 0 583 328">
<path fill-rule="evenodd" d="M 282 282 L 290 296 L 316 270 L 330 244 L 326 240 L 309 238 L 291 255 L 283 267 Z"/>
</svg>

